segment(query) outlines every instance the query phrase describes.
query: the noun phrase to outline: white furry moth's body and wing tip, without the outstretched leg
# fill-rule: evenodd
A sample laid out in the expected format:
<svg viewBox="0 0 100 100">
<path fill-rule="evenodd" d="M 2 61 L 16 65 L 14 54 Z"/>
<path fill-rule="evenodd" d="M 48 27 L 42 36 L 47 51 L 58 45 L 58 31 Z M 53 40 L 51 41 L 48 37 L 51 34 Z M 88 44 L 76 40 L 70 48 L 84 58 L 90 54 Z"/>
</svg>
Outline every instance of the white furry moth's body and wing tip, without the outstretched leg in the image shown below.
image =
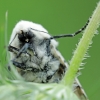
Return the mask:
<svg viewBox="0 0 100 100">
<path fill-rule="evenodd" d="M 19 21 L 12 31 L 8 46 L 12 64 L 26 81 L 60 82 L 68 69 L 68 64 L 57 50 L 58 42 L 55 39 L 76 36 L 86 28 L 88 22 L 74 34 L 51 36 L 39 24 Z M 73 83 L 73 90 L 81 100 L 87 100 L 78 79 Z"/>
</svg>

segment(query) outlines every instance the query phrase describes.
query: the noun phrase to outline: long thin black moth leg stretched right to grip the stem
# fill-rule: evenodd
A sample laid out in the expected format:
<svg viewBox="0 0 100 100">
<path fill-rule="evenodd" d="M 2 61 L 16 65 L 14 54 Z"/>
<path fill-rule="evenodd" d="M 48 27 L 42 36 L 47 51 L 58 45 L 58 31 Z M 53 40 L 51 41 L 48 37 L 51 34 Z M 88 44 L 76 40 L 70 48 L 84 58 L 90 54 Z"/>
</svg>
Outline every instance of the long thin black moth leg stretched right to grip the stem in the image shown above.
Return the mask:
<svg viewBox="0 0 100 100">
<path fill-rule="evenodd" d="M 91 17 L 90 17 L 91 18 Z M 82 31 L 85 30 L 85 28 L 87 27 L 89 21 L 90 21 L 90 18 L 88 19 L 88 21 L 86 22 L 86 24 L 80 29 L 78 30 L 77 32 L 73 33 L 73 34 L 64 34 L 64 35 L 57 35 L 57 36 L 52 36 L 50 39 L 54 39 L 54 38 L 62 38 L 62 37 L 74 37 L 76 36 L 77 34 L 81 33 Z"/>
</svg>

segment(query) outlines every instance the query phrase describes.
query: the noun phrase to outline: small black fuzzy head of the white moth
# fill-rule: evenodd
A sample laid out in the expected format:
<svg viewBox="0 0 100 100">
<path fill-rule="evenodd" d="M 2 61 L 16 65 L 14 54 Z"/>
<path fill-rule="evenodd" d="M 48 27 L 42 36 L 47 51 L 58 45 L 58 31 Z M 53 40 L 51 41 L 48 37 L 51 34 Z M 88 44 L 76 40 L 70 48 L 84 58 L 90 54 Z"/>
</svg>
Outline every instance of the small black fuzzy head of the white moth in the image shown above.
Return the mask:
<svg viewBox="0 0 100 100">
<path fill-rule="evenodd" d="M 31 39 L 34 37 L 34 34 L 29 30 L 27 32 L 24 32 L 23 30 L 18 33 L 18 39 L 21 42 L 30 42 Z"/>
</svg>

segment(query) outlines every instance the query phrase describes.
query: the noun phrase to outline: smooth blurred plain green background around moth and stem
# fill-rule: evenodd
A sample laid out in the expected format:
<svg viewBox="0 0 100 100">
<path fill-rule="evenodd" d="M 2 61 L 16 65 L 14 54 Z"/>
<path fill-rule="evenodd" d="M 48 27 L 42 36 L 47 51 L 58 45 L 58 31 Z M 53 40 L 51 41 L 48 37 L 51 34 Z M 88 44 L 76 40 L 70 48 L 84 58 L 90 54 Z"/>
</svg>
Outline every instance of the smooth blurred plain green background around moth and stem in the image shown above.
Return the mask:
<svg viewBox="0 0 100 100">
<path fill-rule="evenodd" d="M 0 0 L 0 60 L 5 50 L 5 13 L 8 11 L 8 40 L 15 24 L 30 20 L 43 25 L 51 35 L 70 34 L 85 25 L 99 0 Z M 99 29 L 100 32 L 100 29 Z M 59 50 L 70 61 L 82 34 L 74 38 L 57 39 Z M 100 34 L 93 38 L 89 58 L 79 80 L 90 100 L 100 100 Z"/>
</svg>

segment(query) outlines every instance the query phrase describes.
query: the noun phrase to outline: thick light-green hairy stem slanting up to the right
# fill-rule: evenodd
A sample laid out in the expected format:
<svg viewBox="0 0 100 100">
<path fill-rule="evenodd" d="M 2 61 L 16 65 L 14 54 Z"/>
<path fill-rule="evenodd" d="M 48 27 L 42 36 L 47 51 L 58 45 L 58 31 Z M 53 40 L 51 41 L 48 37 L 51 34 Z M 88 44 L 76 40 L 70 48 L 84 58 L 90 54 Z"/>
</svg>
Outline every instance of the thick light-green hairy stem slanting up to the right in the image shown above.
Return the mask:
<svg viewBox="0 0 100 100">
<path fill-rule="evenodd" d="M 70 62 L 69 70 L 67 71 L 64 82 L 65 85 L 71 86 L 73 84 L 73 80 L 75 79 L 76 73 L 78 68 L 84 58 L 84 55 L 91 43 L 91 40 L 96 32 L 97 28 L 100 24 L 100 2 L 97 5 L 97 8 L 93 12 L 91 20 L 81 38 L 80 42 L 78 43 L 77 49 L 74 52 L 74 55 Z"/>
</svg>

